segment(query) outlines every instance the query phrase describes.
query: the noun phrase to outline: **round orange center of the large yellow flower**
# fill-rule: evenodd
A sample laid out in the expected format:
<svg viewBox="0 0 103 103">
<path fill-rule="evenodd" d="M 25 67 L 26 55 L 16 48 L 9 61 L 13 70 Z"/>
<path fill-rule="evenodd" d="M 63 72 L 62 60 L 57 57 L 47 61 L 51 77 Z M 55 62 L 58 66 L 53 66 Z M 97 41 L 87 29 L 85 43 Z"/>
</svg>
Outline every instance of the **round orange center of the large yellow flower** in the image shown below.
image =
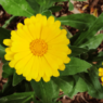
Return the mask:
<svg viewBox="0 0 103 103">
<path fill-rule="evenodd" d="M 48 44 L 44 42 L 44 40 L 36 39 L 30 42 L 30 50 L 34 55 L 41 56 L 47 52 Z"/>
</svg>

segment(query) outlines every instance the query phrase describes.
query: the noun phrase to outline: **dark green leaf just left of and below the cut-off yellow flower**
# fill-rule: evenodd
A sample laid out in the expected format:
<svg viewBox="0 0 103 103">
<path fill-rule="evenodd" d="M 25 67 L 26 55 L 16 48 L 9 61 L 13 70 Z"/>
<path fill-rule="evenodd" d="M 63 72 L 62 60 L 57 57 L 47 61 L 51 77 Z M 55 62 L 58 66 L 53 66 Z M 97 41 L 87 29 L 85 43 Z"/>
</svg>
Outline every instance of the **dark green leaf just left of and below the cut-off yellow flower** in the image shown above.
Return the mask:
<svg viewBox="0 0 103 103">
<path fill-rule="evenodd" d="M 88 93 L 96 99 L 103 99 L 103 87 L 99 81 L 98 69 L 92 67 L 89 74 L 81 74 L 88 86 Z"/>
</svg>

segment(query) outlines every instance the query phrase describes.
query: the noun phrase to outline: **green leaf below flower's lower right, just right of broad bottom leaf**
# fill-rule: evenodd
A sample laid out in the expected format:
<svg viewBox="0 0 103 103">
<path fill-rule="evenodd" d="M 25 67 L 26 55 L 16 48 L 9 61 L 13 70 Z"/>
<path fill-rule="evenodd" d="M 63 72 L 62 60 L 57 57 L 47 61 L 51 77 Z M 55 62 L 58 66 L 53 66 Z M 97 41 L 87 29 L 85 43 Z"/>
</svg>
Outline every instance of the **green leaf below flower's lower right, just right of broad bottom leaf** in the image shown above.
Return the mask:
<svg viewBox="0 0 103 103">
<path fill-rule="evenodd" d="M 72 76 L 64 76 L 64 77 L 57 77 L 52 78 L 52 80 L 57 85 L 60 89 L 63 90 L 65 94 L 69 93 L 74 86 L 74 78 Z"/>
</svg>

